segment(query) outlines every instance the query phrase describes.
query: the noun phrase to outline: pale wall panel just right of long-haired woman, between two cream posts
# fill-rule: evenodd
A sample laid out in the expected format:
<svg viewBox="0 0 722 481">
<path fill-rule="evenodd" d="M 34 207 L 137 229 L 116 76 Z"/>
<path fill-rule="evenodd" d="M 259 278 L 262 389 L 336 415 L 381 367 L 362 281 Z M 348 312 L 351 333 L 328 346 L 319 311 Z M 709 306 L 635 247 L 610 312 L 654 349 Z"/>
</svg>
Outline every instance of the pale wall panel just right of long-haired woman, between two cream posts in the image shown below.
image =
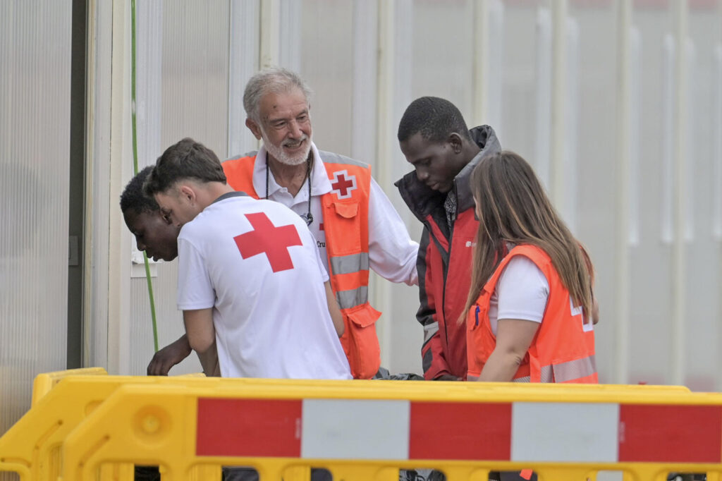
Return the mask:
<svg viewBox="0 0 722 481">
<path fill-rule="evenodd" d="M 589 251 L 596 267 L 595 294 L 601 307 L 602 324 L 596 329 L 596 344 L 600 355 L 597 360 L 600 381 L 612 382 L 610 373 L 614 366 L 612 348 L 615 323 L 612 321 L 614 305 L 614 140 L 601 132 L 611 130 L 615 124 L 616 108 L 608 99 L 615 98 L 616 56 L 614 32 L 616 28 L 613 4 L 606 6 L 577 6 L 570 3 L 569 16 L 578 23 L 578 126 L 572 128 L 573 118 L 567 114 L 565 122 L 566 155 L 573 157 L 577 165 L 576 175 L 565 170 L 565 192 L 575 190 L 576 199 L 562 196 L 566 202 L 575 202 L 576 225 L 573 234 Z M 567 45 L 570 48 L 570 45 Z M 567 52 L 568 53 L 568 52 Z M 567 78 L 567 89 L 572 85 Z M 568 98 L 567 103 L 573 102 Z M 576 139 L 574 134 L 578 134 Z M 611 130 L 613 132 L 613 130 Z M 571 147 L 576 144 L 576 151 Z M 508 146 L 509 147 L 509 146 Z M 554 160 L 552 160 L 552 163 Z M 553 177 L 553 175 L 552 175 Z M 573 188 L 572 188 L 573 187 Z M 555 205 L 560 212 L 568 212 L 567 206 Z M 570 219 L 565 219 L 567 224 Z M 570 225 L 570 228 L 573 226 Z"/>
</svg>

